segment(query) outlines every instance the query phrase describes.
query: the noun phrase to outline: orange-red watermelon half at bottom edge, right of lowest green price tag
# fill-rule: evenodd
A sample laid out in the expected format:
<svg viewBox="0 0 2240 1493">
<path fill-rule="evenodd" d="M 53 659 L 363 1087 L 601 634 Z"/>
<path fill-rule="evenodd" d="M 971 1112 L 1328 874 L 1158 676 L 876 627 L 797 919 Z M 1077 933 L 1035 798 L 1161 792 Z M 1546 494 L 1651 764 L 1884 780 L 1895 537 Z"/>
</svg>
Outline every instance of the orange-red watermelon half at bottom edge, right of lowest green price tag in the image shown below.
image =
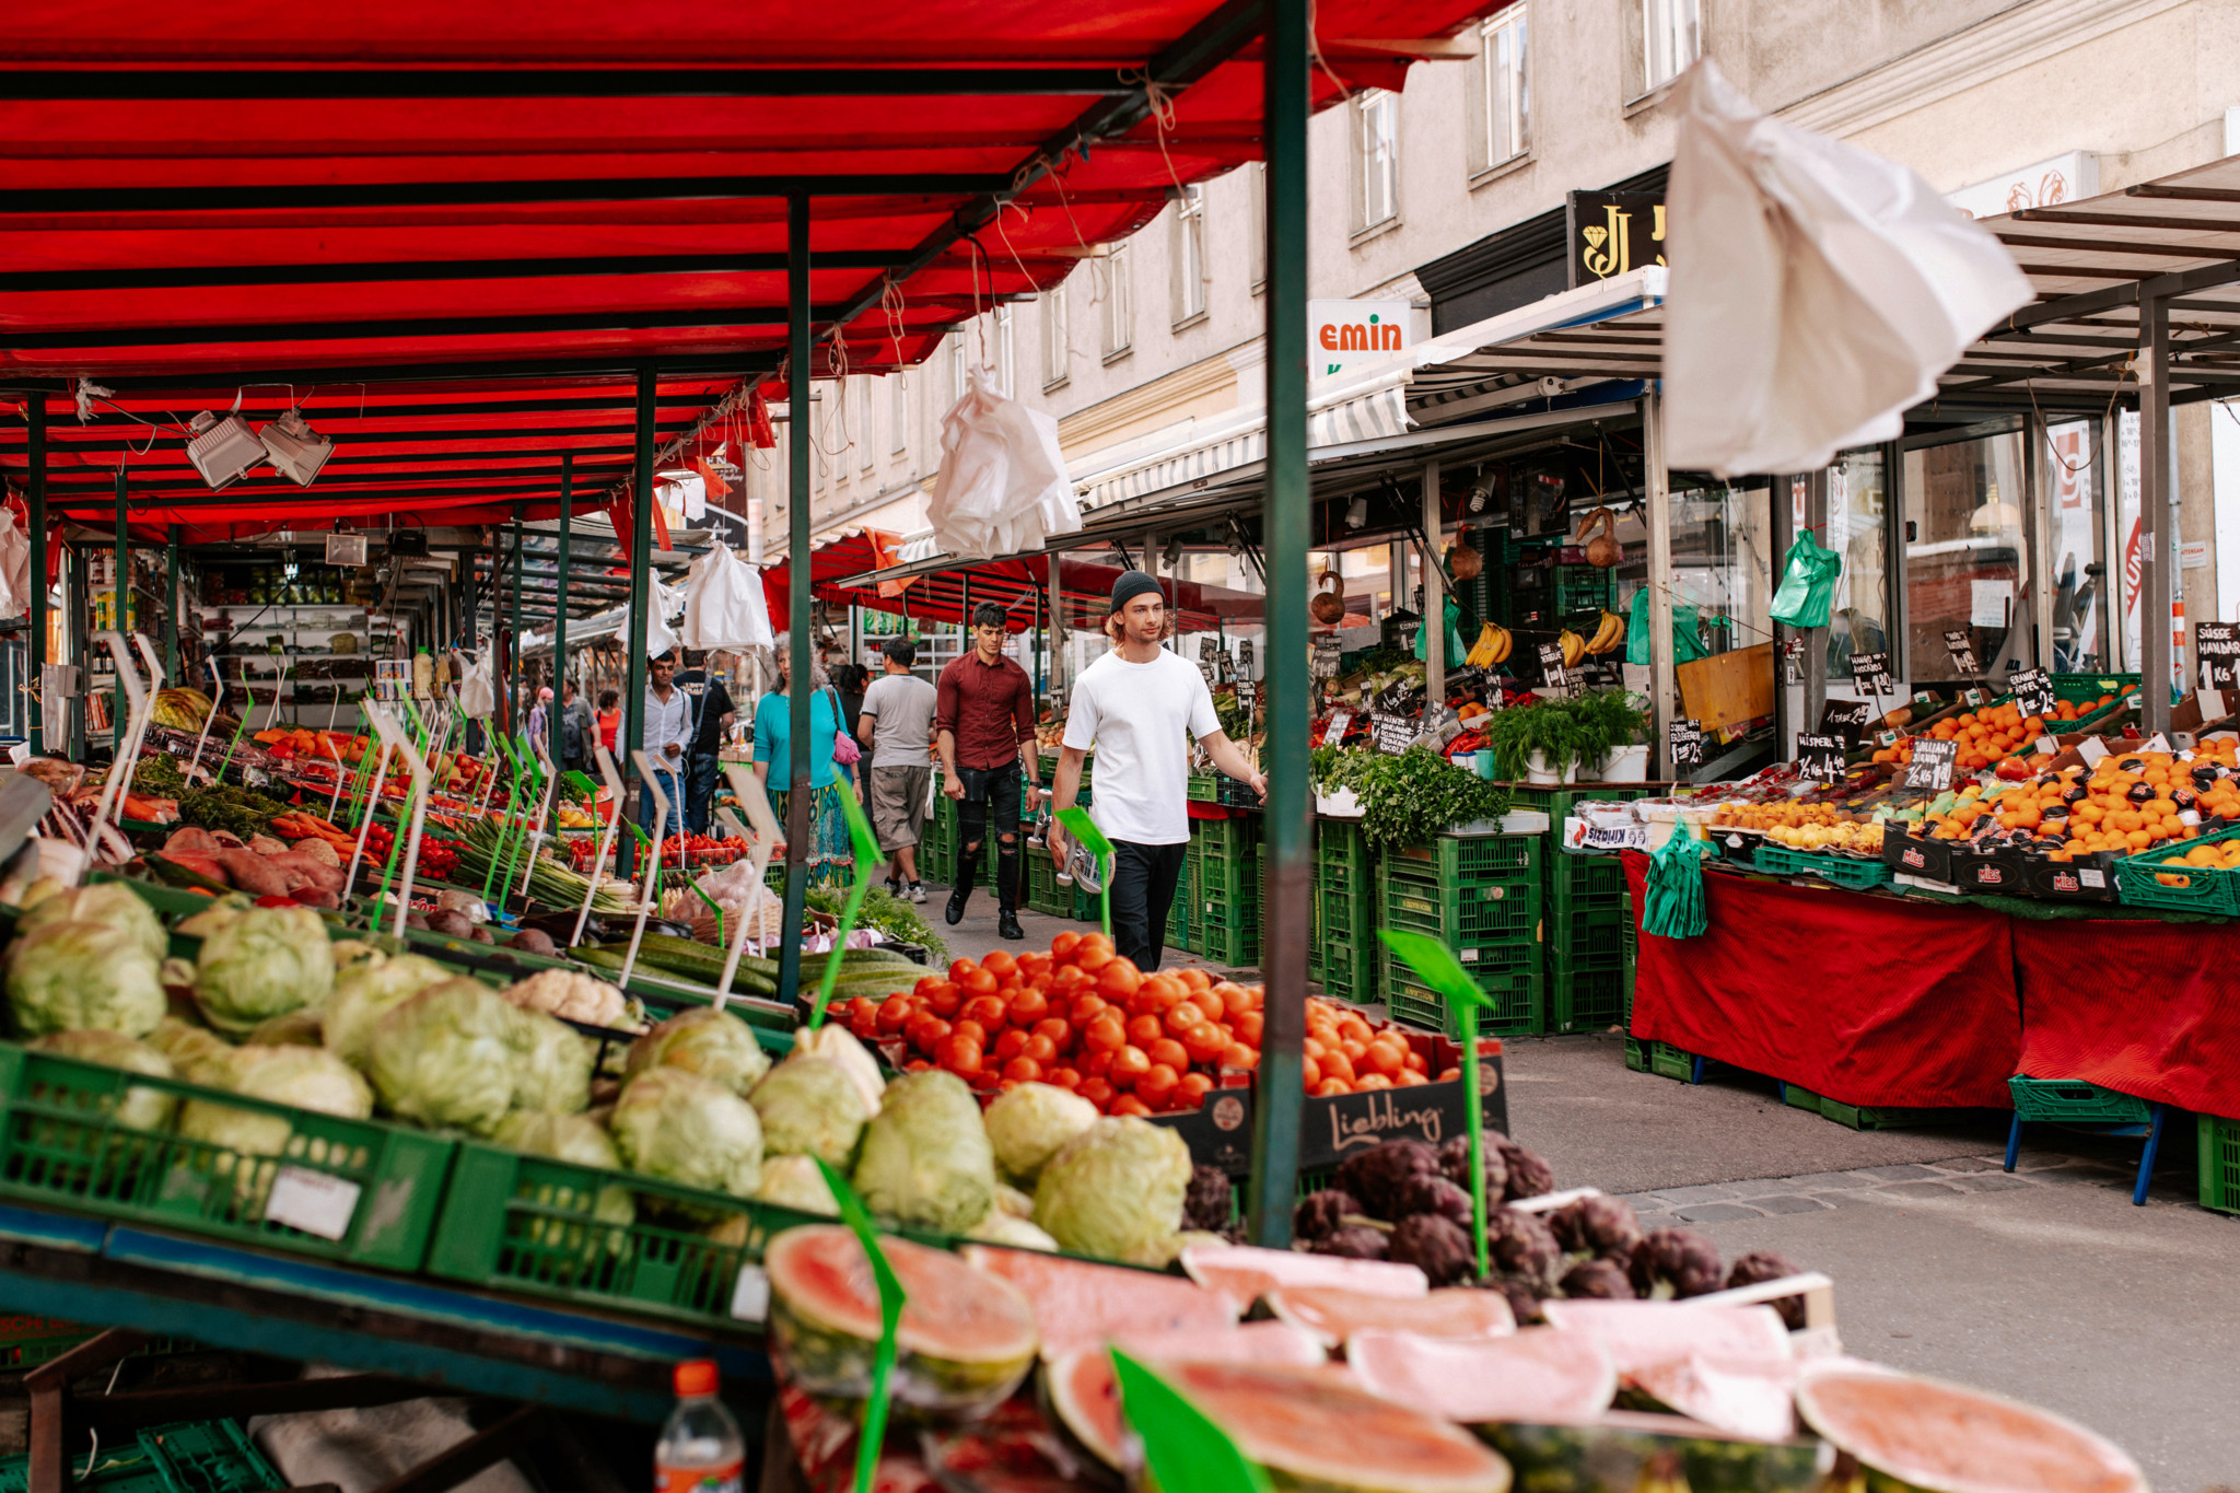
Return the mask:
<svg viewBox="0 0 2240 1493">
<path fill-rule="evenodd" d="M 1337 1368 L 1165 1363 L 1160 1374 L 1279 1491 L 1508 1493 L 1510 1466 L 1469 1433 L 1378 1399 Z"/>
</svg>

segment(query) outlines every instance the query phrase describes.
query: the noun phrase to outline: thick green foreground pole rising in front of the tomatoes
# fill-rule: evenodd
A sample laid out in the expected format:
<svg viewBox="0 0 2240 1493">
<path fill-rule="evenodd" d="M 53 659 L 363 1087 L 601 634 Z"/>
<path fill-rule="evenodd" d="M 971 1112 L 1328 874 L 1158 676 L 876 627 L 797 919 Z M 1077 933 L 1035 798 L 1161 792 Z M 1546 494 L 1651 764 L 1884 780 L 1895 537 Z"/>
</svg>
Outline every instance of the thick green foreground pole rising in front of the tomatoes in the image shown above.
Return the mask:
<svg viewBox="0 0 2240 1493">
<path fill-rule="evenodd" d="M 1310 0 L 1270 0 L 1261 137 L 1268 148 L 1268 1030 L 1252 1106 L 1252 1242 L 1290 1245 L 1299 1173 L 1299 1063 L 1313 938 L 1313 808 L 1306 797 L 1306 112 Z"/>
</svg>

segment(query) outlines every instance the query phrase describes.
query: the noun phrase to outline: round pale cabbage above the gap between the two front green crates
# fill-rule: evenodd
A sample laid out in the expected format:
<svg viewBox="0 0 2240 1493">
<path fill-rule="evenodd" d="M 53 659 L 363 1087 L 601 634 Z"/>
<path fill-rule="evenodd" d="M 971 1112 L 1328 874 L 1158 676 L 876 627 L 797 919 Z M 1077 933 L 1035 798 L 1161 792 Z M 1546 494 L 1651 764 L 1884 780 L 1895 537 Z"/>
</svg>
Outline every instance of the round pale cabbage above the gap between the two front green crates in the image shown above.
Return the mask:
<svg viewBox="0 0 2240 1493">
<path fill-rule="evenodd" d="M 515 1012 L 482 980 L 444 980 L 374 1025 L 365 1072 L 381 1106 L 435 1130 L 491 1135 L 520 1086 Z"/>
</svg>

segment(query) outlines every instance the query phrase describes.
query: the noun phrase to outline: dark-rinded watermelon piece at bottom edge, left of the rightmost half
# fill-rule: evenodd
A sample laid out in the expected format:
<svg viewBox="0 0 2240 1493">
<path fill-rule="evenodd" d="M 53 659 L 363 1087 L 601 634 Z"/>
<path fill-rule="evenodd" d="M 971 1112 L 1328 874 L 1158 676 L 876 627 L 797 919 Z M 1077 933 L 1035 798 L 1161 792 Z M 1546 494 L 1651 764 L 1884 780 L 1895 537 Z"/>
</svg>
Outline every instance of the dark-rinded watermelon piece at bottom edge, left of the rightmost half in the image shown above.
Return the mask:
<svg viewBox="0 0 2240 1493">
<path fill-rule="evenodd" d="M 1611 1410 L 1586 1426 L 1478 1426 L 1539 1493 L 1810 1493 L 1835 1455 L 1821 1442 L 1747 1442 L 1678 1415 Z"/>
</svg>

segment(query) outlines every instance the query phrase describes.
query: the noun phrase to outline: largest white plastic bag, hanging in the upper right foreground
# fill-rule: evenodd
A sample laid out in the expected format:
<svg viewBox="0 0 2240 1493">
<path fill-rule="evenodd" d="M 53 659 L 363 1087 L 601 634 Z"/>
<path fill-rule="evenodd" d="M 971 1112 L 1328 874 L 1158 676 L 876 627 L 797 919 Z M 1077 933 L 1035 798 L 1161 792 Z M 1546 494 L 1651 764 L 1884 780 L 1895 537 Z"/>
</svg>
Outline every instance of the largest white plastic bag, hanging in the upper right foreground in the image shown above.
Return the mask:
<svg viewBox="0 0 2240 1493">
<path fill-rule="evenodd" d="M 1696 63 L 1667 193 L 1664 461 L 1808 472 L 1904 412 L 2032 298 L 1913 170 L 1767 119 Z"/>
</svg>

